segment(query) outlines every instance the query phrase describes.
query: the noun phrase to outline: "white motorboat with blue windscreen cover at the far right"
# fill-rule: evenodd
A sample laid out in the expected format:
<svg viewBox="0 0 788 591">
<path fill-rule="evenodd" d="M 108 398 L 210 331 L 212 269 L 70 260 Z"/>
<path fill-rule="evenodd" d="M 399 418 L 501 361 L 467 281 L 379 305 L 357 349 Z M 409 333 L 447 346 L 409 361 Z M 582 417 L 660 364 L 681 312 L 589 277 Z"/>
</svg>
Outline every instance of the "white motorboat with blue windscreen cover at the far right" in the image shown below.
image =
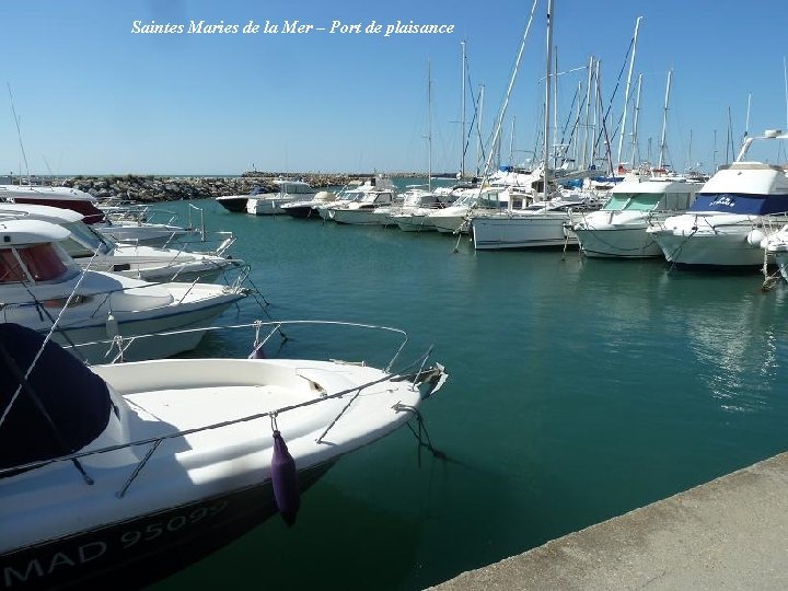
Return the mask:
<svg viewBox="0 0 788 591">
<path fill-rule="evenodd" d="M 788 139 L 767 131 L 744 142 L 737 160 L 720 166 L 686 213 L 647 230 L 679 267 L 762 267 L 762 242 L 788 222 L 788 177 L 781 166 L 748 162 L 754 140 Z"/>
</svg>

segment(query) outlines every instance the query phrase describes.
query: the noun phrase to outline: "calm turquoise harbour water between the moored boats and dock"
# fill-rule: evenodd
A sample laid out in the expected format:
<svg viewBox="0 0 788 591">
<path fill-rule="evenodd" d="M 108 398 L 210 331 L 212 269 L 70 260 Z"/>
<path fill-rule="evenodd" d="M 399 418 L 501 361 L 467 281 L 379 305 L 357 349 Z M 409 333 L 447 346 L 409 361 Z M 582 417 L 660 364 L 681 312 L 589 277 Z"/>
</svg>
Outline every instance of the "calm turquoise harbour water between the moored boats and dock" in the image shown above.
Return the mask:
<svg viewBox="0 0 788 591">
<path fill-rule="evenodd" d="M 396 326 L 408 359 L 436 346 L 451 376 L 422 412 L 449 461 L 419 455 L 402 429 L 332 468 L 292 529 L 269 520 L 159 591 L 422 589 L 787 447 L 788 286 L 764 292 L 757 273 L 476 253 L 467 240 L 454 253 L 445 235 L 195 205 L 239 236 L 271 317 Z M 259 316 L 247 301 L 221 320 Z M 380 363 L 396 348 L 289 336 L 280 355 Z M 217 335 L 197 354 L 250 349 Z"/>
</svg>

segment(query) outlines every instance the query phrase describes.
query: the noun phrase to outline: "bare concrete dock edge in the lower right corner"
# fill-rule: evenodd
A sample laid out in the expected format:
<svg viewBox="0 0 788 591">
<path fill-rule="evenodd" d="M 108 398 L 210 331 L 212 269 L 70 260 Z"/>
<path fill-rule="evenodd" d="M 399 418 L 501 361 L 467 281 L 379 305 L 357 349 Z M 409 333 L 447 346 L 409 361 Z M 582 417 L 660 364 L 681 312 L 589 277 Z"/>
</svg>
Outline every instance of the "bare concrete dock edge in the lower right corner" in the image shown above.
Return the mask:
<svg viewBox="0 0 788 591">
<path fill-rule="evenodd" d="M 787 590 L 788 453 L 431 589 Z"/>
</svg>

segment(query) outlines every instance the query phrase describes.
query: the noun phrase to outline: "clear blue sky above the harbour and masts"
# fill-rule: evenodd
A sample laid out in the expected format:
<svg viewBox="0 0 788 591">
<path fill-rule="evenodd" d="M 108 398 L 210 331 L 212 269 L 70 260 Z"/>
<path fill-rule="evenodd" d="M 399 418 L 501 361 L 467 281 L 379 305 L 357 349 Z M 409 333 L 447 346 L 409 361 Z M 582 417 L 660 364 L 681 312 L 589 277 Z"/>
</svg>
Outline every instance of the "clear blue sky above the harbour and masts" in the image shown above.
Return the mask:
<svg viewBox="0 0 788 591">
<path fill-rule="evenodd" d="M 537 0 L 500 114 L 532 5 L 5 0 L 0 174 L 419 172 L 428 170 L 429 154 L 433 173 L 455 173 L 464 143 L 463 85 L 466 125 L 474 105 L 480 107 L 484 140 L 473 131 L 465 169 L 477 166 L 479 143 L 487 153 L 498 120 L 501 162 L 528 164 L 541 153 L 547 0 Z M 786 8 L 785 0 L 554 0 L 553 45 L 561 72 L 553 78 L 555 137 L 561 142 L 567 121 L 575 120 L 572 104 L 577 94 L 584 97 L 591 56 L 601 63 L 609 131 L 618 126 L 635 24 L 642 18 L 629 86 L 634 106 L 642 74 L 640 160 L 659 159 L 672 70 L 665 159 L 675 170 L 712 171 L 733 158 L 745 132 L 788 128 Z M 189 33 L 193 21 L 231 32 Z M 285 21 L 314 28 L 282 33 Z M 410 21 L 445 25 L 444 32 L 385 35 L 389 25 Z M 256 33 L 243 32 L 250 22 L 259 25 Z M 265 33 L 266 22 L 280 31 Z M 134 32 L 153 24 L 176 32 Z M 634 113 L 627 117 L 622 161 L 631 153 Z M 611 144 L 616 160 L 617 137 Z M 772 143 L 754 157 L 785 162 L 781 150 Z"/>
</svg>

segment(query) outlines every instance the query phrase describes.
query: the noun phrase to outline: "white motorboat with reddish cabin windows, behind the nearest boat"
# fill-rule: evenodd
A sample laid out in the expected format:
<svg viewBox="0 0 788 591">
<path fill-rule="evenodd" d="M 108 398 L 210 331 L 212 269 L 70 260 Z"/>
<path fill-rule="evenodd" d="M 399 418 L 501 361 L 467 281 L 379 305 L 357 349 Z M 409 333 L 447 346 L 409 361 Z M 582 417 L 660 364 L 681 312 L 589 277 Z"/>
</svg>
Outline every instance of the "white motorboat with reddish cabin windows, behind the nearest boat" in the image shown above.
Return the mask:
<svg viewBox="0 0 788 591">
<path fill-rule="evenodd" d="M 107 360 L 96 341 L 207 327 L 230 304 L 247 296 L 237 285 L 155 285 L 104 271 L 82 270 L 59 243 L 65 228 L 37 220 L 0 220 L 0 322 L 40 333 L 55 331 L 62 345 L 89 362 Z M 53 328 L 55 327 L 55 328 Z M 194 349 L 200 332 L 167 334 L 132 343 L 128 360 L 169 357 Z"/>
</svg>

